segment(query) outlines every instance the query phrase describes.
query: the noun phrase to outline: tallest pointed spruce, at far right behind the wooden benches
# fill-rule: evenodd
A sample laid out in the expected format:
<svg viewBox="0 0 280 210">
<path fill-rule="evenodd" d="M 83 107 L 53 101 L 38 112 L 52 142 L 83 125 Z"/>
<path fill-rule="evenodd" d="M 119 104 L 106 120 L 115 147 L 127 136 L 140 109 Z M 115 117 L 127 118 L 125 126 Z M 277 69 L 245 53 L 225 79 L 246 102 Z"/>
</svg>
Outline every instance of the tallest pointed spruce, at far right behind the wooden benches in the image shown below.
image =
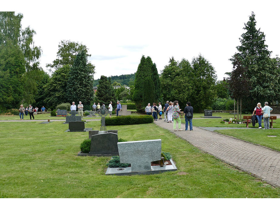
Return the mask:
<svg viewBox="0 0 280 210">
<path fill-rule="evenodd" d="M 268 46 L 265 45 L 264 33 L 256 29 L 254 12 L 243 29 L 246 32 L 239 38 L 241 46 L 236 47 L 238 52 L 230 59 L 234 66 L 232 75 L 236 75 L 234 71 L 239 69 L 245 70 L 244 75 L 250 85 L 249 94 L 248 98 L 244 98 L 243 95 L 240 95 L 240 98 L 244 98 L 248 104 L 253 103 L 251 106 L 254 107 L 256 102 L 272 101 L 277 97 L 280 91 L 279 72 L 270 58 L 271 51 L 268 51 Z"/>
</svg>

